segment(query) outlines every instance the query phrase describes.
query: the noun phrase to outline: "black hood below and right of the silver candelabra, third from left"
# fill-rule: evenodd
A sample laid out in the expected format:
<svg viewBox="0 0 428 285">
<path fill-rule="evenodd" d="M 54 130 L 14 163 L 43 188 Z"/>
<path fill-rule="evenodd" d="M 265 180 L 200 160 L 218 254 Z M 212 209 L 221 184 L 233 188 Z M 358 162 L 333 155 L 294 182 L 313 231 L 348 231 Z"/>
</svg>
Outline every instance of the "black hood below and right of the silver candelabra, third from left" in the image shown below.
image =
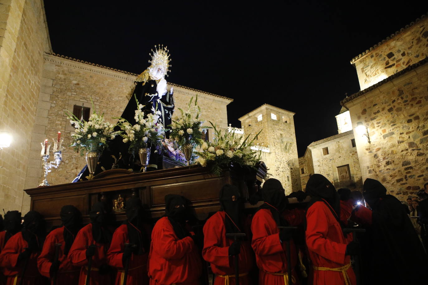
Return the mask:
<svg viewBox="0 0 428 285">
<path fill-rule="evenodd" d="M 59 216 L 64 226 L 64 254 L 68 255 L 68 251 L 70 250 L 71 244 L 73 244 L 77 232 L 82 228 L 82 213 L 80 213 L 76 207 L 66 205 L 61 208 Z"/>
</svg>

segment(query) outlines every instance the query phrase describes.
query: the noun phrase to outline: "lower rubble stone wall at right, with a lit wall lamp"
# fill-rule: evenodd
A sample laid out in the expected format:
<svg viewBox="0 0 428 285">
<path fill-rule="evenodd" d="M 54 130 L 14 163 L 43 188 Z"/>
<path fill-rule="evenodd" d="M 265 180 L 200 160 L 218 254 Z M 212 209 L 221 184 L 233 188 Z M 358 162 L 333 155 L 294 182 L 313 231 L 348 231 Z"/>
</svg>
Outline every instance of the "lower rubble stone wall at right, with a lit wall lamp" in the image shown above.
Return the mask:
<svg viewBox="0 0 428 285">
<path fill-rule="evenodd" d="M 363 181 L 378 179 L 389 194 L 405 200 L 428 181 L 428 63 L 382 83 L 342 105 L 354 127 L 362 122 L 369 130 L 371 143 L 354 133 Z"/>
</svg>

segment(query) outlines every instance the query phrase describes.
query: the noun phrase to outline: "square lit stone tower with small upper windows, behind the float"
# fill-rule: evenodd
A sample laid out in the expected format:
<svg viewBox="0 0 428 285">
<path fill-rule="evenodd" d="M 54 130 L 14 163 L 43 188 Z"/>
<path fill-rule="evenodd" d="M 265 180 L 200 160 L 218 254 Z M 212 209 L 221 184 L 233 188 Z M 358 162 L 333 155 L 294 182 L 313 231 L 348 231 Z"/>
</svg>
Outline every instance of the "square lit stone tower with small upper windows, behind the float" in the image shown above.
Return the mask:
<svg viewBox="0 0 428 285">
<path fill-rule="evenodd" d="M 262 150 L 262 160 L 272 178 L 281 181 L 287 194 L 301 190 L 297 156 L 295 113 L 264 104 L 239 118 L 244 136 L 250 138 L 262 131 L 256 147 Z"/>
</svg>

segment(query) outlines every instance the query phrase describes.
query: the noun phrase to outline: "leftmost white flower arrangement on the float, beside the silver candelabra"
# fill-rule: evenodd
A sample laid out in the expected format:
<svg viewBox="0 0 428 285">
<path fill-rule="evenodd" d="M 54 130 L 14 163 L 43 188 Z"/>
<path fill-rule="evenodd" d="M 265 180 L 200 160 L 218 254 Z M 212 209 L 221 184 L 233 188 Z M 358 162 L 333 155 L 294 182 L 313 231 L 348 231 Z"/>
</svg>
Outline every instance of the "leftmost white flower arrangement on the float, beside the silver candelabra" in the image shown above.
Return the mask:
<svg viewBox="0 0 428 285">
<path fill-rule="evenodd" d="M 101 152 L 107 141 L 113 140 L 116 135 L 121 133 L 121 131 L 114 131 L 116 125 L 104 120 L 104 114 L 98 115 L 93 112 L 86 122 L 68 112 L 68 119 L 75 128 L 71 135 L 73 141 L 70 146 L 74 147 L 74 150 L 80 151 L 82 156 L 83 150 Z"/>
</svg>

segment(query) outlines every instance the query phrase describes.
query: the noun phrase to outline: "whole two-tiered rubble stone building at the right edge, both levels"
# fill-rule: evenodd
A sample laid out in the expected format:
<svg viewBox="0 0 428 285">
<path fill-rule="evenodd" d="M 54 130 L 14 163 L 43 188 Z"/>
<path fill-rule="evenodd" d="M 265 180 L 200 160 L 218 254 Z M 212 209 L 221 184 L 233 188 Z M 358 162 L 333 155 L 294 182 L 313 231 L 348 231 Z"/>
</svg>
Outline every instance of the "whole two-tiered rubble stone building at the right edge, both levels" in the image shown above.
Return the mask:
<svg viewBox="0 0 428 285">
<path fill-rule="evenodd" d="M 400 200 L 428 181 L 427 23 L 428 17 L 416 20 L 353 59 L 362 91 L 341 102 L 351 114 L 363 181 L 380 180 Z M 406 58 L 397 62 L 404 51 Z M 385 63 L 389 56 L 394 68 Z M 372 71 L 361 74 L 359 66 L 369 65 Z M 378 82 L 385 70 L 386 78 Z M 357 134 L 357 123 L 366 126 L 370 142 Z"/>
</svg>

